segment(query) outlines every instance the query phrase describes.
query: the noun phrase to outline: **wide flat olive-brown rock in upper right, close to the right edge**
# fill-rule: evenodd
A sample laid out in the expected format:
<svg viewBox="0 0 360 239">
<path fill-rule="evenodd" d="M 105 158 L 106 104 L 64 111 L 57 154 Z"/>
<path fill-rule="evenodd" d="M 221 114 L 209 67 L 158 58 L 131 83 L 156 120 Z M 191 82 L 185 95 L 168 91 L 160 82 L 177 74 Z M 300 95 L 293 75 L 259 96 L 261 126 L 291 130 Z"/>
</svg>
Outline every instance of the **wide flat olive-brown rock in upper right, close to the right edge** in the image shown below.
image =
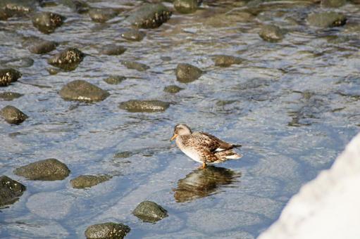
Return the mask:
<svg viewBox="0 0 360 239">
<path fill-rule="evenodd" d="M 307 22 L 314 27 L 340 27 L 345 25 L 347 18 L 344 14 L 335 12 L 311 13 Z"/>
</svg>

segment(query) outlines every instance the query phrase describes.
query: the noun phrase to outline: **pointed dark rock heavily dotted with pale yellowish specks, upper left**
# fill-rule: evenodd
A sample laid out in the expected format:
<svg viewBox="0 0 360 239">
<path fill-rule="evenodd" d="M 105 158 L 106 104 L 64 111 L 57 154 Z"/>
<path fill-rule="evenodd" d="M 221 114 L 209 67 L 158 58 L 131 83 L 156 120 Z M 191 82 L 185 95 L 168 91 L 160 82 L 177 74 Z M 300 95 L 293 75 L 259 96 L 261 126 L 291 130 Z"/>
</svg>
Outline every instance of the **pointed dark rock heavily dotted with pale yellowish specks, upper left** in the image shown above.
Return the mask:
<svg viewBox="0 0 360 239">
<path fill-rule="evenodd" d="M 47 63 L 63 70 L 75 70 L 84 57 L 85 54 L 82 53 L 82 51 L 75 48 L 68 48 L 49 58 Z"/>
</svg>

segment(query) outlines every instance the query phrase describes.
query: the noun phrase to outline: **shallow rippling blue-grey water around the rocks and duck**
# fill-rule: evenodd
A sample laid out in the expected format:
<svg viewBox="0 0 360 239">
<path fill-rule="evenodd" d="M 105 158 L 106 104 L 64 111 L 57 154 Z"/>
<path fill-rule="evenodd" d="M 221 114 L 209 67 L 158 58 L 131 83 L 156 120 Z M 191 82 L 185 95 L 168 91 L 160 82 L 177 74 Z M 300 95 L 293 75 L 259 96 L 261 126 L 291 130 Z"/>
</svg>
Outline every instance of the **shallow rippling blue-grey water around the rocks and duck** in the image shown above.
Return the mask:
<svg viewBox="0 0 360 239">
<path fill-rule="evenodd" d="M 133 8 L 141 1 L 89 1 L 90 6 Z M 347 4 L 344 27 L 309 27 L 308 13 L 325 11 L 310 1 L 205 1 L 192 15 L 174 13 L 140 42 L 120 37 L 123 15 L 99 24 L 58 4 L 39 11 L 65 15 L 66 23 L 42 34 L 27 17 L 0 21 L 0 58 L 32 58 L 18 67 L 23 77 L 0 91 L 24 96 L 0 100 L 29 118 L 20 125 L 0 122 L 0 174 L 27 190 L 0 212 L 1 238 L 83 238 L 87 226 L 105 221 L 131 228 L 127 238 L 256 238 L 280 215 L 300 186 L 328 169 L 359 131 L 359 5 Z M 171 6 L 171 4 L 167 4 Z M 256 13 L 244 19 L 242 13 Z M 228 13 L 233 20 L 211 22 Z M 280 43 L 259 37 L 263 23 L 287 30 Z M 35 55 L 23 48 L 25 37 L 61 43 L 56 51 Z M 121 56 L 103 56 L 101 46 L 128 48 Z M 89 54 L 72 72 L 49 75 L 49 56 L 75 46 Z M 215 67 L 211 56 L 228 54 L 240 65 Z M 168 58 L 164 58 L 168 57 Z M 120 60 L 151 68 L 128 70 Z M 198 80 L 181 84 L 174 69 L 190 63 L 206 70 Z M 9 64 L 9 63 L 7 63 Z M 118 85 L 103 81 L 125 75 Z M 84 79 L 111 96 L 99 103 L 63 101 L 61 87 Z M 184 90 L 163 91 L 176 84 Z M 130 99 L 168 101 L 165 112 L 133 113 L 118 104 Z M 173 126 L 185 122 L 225 141 L 241 143 L 241 160 L 228 161 L 206 174 L 170 143 Z M 116 157 L 117 153 L 128 157 Z M 28 181 L 15 167 L 55 157 L 68 165 L 63 181 Z M 87 190 L 73 189 L 81 174 L 109 174 L 110 181 Z M 184 189 L 185 188 L 185 189 Z M 194 189 L 195 188 L 195 189 Z M 156 224 L 131 212 L 143 200 L 168 210 Z"/>
</svg>

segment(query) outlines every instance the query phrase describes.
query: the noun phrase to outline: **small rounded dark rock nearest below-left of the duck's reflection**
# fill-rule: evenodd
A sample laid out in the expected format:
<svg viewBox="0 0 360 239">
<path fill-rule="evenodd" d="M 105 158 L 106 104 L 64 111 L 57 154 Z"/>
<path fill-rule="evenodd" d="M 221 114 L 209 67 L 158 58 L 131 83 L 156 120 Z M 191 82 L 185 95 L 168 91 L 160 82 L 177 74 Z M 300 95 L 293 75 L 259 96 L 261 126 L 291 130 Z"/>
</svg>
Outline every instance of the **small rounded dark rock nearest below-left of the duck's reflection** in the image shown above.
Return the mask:
<svg viewBox="0 0 360 239">
<path fill-rule="evenodd" d="M 163 207 L 151 201 L 140 202 L 132 214 L 142 219 L 142 221 L 153 223 L 168 217 L 166 209 L 163 209 Z"/>
</svg>

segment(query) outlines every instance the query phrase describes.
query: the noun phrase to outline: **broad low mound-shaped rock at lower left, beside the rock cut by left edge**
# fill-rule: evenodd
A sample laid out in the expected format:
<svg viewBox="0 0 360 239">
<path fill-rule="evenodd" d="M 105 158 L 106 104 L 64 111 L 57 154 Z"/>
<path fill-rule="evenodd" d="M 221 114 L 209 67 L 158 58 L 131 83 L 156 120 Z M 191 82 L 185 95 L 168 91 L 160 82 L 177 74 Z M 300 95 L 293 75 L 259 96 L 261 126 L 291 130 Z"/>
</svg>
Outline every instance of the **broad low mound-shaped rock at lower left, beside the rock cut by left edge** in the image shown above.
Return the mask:
<svg viewBox="0 0 360 239">
<path fill-rule="evenodd" d="M 14 174 L 31 180 L 54 181 L 65 179 L 70 170 L 63 162 L 49 158 L 18 167 Z"/>
</svg>

